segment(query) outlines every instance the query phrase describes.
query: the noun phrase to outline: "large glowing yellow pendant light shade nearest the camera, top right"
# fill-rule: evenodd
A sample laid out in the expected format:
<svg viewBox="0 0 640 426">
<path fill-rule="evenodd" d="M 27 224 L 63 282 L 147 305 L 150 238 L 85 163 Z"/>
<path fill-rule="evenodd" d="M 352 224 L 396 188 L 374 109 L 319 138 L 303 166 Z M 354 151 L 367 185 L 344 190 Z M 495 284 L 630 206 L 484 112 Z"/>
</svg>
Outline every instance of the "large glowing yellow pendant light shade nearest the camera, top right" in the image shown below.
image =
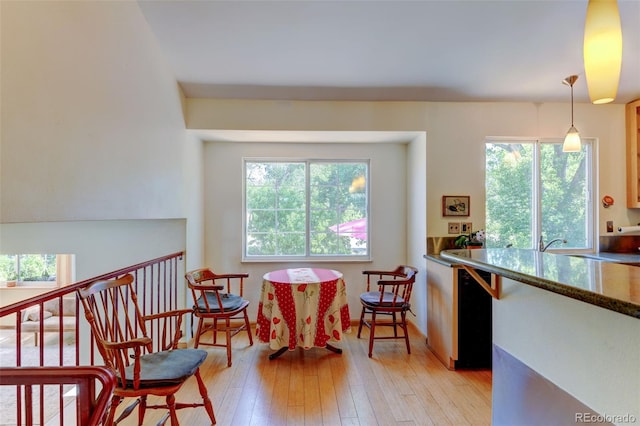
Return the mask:
<svg viewBox="0 0 640 426">
<path fill-rule="evenodd" d="M 622 29 L 616 0 L 589 0 L 584 24 L 584 70 L 594 104 L 612 102 L 622 66 Z"/>
</svg>

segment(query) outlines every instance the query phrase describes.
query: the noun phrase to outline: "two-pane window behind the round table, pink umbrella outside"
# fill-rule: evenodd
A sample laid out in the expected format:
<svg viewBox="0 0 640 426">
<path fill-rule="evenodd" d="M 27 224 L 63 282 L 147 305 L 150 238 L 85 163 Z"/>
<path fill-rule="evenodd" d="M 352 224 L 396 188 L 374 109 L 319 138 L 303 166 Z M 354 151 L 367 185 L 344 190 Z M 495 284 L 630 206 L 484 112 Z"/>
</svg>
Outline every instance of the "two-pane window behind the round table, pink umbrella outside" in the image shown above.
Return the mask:
<svg viewBox="0 0 640 426">
<path fill-rule="evenodd" d="M 244 259 L 368 259 L 368 161 L 245 160 Z"/>
</svg>

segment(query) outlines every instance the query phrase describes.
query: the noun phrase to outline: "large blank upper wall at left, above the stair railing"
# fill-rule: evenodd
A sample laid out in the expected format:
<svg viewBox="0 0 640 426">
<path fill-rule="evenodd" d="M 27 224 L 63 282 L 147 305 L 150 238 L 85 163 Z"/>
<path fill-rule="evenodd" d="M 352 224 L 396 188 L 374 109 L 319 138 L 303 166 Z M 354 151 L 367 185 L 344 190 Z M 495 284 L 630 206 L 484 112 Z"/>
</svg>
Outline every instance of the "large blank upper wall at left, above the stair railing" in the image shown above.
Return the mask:
<svg viewBox="0 0 640 426">
<path fill-rule="evenodd" d="M 183 217 L 180 91 L 138 5 L 0 7 L 0 222 Z"/>
</svg>

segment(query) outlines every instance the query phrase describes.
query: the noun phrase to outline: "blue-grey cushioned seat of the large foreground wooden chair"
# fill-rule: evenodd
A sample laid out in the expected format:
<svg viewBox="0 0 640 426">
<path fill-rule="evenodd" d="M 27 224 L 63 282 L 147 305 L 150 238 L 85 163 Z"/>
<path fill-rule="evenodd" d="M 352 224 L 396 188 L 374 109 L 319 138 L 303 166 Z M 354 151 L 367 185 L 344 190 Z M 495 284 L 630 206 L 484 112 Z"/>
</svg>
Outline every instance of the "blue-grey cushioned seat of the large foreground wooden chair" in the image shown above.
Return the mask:
<svg viewBox="0 0 640 426">
<path fill-rule="evenodd" d="M 170 386 L 191 377 L 207 357 L 202 349 L 176 349 L 140 357 L 140 387 Z M 125 368 L 127 386 L 133 387 L 133 364 Z M 120 380 L 121 382 L 121 380 Z"/>
</svg>

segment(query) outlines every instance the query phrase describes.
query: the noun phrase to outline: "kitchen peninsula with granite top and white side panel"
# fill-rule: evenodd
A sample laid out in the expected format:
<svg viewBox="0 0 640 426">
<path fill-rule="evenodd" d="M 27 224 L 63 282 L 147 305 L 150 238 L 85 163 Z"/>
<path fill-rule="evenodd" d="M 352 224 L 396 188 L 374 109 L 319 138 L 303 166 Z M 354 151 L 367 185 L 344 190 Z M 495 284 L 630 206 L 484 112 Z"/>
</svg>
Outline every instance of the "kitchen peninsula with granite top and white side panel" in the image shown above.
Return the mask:
<svg viewBox="0 0 640 426">
<path fill-rule="evenodd" d="M 638 424 L 639 267 L 515 248 L 440 257 L 499 277 L 492 424 Z"/>
</svg>

